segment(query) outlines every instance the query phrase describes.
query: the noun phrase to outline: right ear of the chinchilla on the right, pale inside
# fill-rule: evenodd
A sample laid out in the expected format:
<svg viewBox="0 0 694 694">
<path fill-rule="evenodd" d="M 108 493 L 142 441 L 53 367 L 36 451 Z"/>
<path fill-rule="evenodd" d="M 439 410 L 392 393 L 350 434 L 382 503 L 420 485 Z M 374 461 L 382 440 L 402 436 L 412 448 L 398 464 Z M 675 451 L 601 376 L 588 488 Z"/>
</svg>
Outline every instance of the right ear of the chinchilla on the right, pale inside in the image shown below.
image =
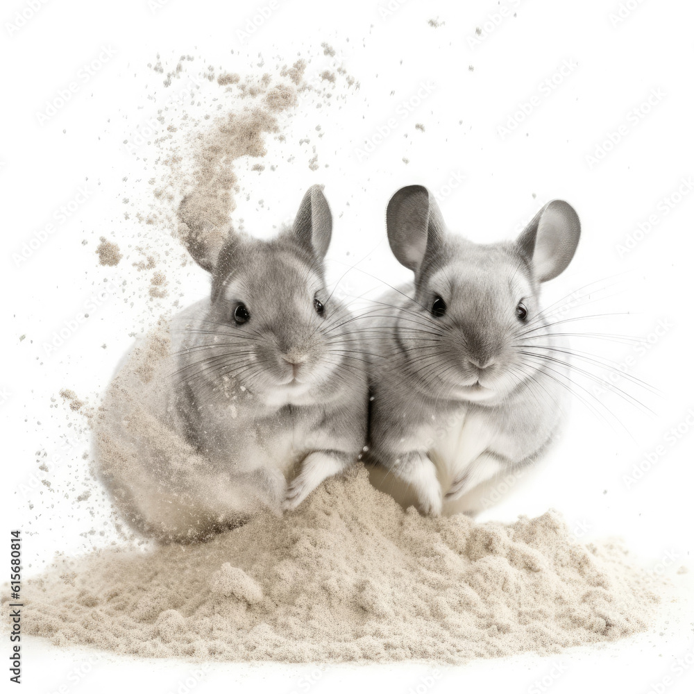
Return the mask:
<svg viewBox="0 0 694 694">
<path fill-rule="evenodd" d="M 547 282 L 566 270 L 580 236 L 576 210 L 563 200 L 552 200 L 525 227 L 516 244 L 530 261 L 536 280 Z"/>
</svg>

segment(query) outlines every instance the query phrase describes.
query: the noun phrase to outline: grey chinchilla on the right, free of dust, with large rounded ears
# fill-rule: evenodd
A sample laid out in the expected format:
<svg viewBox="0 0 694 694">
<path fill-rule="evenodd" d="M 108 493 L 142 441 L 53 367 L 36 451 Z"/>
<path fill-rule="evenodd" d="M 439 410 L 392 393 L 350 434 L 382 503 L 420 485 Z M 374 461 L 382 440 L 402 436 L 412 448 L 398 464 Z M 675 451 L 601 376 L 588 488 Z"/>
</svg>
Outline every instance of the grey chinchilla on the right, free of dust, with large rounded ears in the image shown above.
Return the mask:
<svg viewBox="0 0 694 694">
<path fill-rule="evenodd" d="M 580 223 L 555 200 L 515 242 L 475 244 L 451 235 L 432 194 L 411 185 L 391 198 L 387 232 L 414 282 L 365 316 L 369 461 L 377 486 L 394 476 L 423 513 L 451 513 L 555 437 L 568 372 L 539 291 L 573 258 Z"/>
</svg>

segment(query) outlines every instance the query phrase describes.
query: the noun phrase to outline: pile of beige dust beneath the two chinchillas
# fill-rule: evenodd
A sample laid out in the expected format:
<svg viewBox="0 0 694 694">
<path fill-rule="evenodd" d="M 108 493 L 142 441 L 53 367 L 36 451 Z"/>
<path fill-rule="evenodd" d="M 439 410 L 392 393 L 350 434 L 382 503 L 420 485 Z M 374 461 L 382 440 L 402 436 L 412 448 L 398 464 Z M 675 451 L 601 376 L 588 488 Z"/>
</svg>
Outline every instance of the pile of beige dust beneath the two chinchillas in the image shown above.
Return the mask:
<svg viewBox="0 0 694 694">
<path fill-rule="evenodd" d="M 580 545 L 552 512 L 424 518 L 362 468 L 207 543 L 62 559 L 26 584 L 24 628 L 145 657 L 461 663 L 639 632 L 650 586 L 620 545 Z"/>
</svg>

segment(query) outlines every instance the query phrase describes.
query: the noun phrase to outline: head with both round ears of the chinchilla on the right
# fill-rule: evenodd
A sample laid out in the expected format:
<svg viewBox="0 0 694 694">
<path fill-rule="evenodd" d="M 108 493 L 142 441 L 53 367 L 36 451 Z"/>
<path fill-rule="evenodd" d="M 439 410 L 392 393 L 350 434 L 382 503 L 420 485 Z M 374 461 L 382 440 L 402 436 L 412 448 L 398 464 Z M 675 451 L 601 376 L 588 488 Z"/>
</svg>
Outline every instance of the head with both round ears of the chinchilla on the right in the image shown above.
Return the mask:
<svg viewBox="0 0 694 694">
<path fill-rule="evenodd" d="M 421 185 L 393 195 L 386 221 L 391 250 L 414 271 L 415 303 L 398 321 L 403 354 L 430 396 L 497 400 L 556 370 L 537 297 L 576 251 L 581 227 L 568 203 L 551 201 L 516 242 L 490 245 L 451 235 Z"/>
</svg>

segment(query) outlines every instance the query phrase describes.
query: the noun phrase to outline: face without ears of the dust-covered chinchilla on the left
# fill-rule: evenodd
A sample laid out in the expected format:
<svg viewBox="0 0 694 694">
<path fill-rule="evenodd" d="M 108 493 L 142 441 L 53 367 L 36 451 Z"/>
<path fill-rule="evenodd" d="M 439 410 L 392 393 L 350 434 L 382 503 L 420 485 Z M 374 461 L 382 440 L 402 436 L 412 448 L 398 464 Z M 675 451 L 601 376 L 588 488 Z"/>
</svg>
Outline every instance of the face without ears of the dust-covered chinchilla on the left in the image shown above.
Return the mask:
<svg viewBox="0 0 694 694">
<path fill-rule="evenodd" d="M 337 323 L 320 266 L 289 244 L 251 242 L 212 302 L 217 374 L 248 389 L 305 391 L 339 366 Z"/>
</svg>

